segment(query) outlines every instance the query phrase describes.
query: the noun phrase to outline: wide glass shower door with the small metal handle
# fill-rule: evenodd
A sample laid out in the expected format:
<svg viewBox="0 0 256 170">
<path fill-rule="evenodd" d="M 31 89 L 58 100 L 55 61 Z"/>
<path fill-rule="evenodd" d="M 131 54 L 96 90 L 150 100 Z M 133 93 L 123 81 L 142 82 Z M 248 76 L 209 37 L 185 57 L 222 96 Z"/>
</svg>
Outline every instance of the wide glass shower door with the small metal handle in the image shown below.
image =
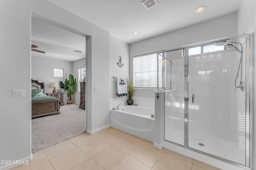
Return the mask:
<svg viewBox="0 0 256 170">
<path fill-rule="evenodd" d="M 234 90 L 240 56 L 233 47 L 189 57 L 188 147 L 245 165 L 246 94 Z"/>
</svg>

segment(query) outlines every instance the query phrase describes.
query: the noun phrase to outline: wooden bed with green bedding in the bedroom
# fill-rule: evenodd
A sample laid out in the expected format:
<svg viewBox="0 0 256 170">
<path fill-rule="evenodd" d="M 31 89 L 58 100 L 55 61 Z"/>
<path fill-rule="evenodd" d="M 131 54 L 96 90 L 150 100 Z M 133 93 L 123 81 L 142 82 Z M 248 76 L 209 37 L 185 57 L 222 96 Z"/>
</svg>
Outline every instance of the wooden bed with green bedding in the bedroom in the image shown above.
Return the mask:
<svg viewBox="0 0 256 170">
<path fill-rule="evenodd" d="M 32 118 L 60 114 L 60 100 L 44 94 L 44 82 L 31 80 Z"/>
</svg>

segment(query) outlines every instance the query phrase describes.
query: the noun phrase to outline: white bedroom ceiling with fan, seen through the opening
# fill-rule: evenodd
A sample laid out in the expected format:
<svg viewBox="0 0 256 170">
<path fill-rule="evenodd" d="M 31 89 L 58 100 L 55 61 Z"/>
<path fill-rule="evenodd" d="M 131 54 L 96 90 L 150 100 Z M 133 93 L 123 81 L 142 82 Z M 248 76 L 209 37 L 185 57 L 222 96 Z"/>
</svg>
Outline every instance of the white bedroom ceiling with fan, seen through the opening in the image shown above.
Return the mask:
<svg viewBox="0 0 256 170">
<path fill-rule="evenodd" d="M 86 56 L 86 39 L 80 35 L 66 31 L 38 18 L 32 18 L 31 44 L 46 53 L 31 51 L 32 57 L 46 57 L 62 61 L 77 61 Z M 74 50 L 82 53 L 72 52 Z"/>
</svg>

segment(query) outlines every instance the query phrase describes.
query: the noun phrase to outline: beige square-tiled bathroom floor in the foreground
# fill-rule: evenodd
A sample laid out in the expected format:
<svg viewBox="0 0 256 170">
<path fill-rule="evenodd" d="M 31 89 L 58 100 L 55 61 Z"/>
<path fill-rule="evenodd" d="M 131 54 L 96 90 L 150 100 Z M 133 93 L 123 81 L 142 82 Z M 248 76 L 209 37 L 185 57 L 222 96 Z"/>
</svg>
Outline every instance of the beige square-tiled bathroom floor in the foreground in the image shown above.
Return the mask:
<svg viewBox="0 0 256 170">
<path fill-rule="evenodd" d="M 218 170 L 153 143 L 109 127 L 68 139 L 33 153 L 12 170 Z"/>
</svg>

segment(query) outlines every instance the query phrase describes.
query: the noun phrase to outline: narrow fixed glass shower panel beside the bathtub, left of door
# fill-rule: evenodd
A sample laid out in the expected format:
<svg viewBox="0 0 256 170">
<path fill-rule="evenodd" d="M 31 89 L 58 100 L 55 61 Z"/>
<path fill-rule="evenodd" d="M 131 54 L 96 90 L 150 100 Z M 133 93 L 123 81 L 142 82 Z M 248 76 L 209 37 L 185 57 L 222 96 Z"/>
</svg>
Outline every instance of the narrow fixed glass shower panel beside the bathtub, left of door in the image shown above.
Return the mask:
<svg viewBox="0 0 256 170">
<path fill-rule="evenodd" d="M 165 140 L 184 146 L 184 57 L 182 50 L 168 51 L 165 90 Z M 171 64 L 170 64 L 171 63 Z M 168 89 L 168 87 L 171 89 Z"/>
</svg>

